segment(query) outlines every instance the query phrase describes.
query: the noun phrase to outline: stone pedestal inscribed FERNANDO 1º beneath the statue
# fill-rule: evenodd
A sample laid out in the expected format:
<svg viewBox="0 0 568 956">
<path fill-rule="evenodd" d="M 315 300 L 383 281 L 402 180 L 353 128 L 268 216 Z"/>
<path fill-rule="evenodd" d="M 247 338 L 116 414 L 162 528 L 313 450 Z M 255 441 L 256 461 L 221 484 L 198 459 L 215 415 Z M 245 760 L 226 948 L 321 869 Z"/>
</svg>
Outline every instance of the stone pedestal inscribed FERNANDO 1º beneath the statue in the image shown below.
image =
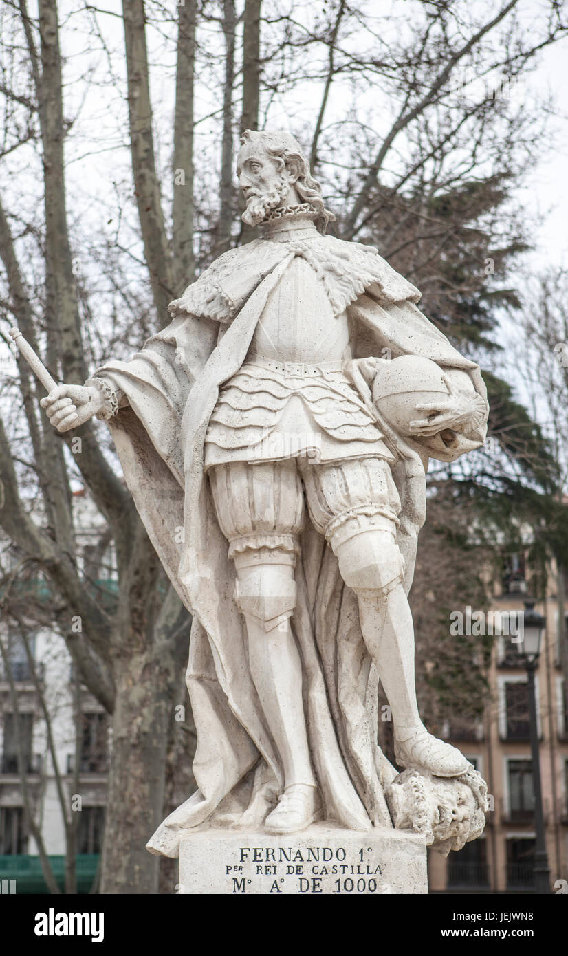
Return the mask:
<svg viewBox="0 0 568 956">
<path fill-rule="evenodd" d="M 179 880 L 181 894 L 425 894 L 425 838 L 328 823 L 289 836 L 193 831 L 180 843 Z"/>
</svg>

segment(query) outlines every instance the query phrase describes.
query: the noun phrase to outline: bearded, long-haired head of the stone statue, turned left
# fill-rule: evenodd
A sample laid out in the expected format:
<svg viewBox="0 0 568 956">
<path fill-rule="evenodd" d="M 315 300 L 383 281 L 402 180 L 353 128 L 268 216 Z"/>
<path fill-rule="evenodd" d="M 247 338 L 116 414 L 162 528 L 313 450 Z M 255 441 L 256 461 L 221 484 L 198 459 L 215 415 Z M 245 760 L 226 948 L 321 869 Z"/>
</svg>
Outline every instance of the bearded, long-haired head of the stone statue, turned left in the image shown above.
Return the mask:
<svg viewBox="0 0 568 956">
<path fill-rule="evenodd" d="M 237 158 L 239 186 L 247 202 L 242 219 L 249 226 L 263 222 L 278 206 L 309 203 L 316 212 L 320 232 L 333 213 L 323 206 L 321 187 L 310 173 L 310 163 L 290 133 L 255 132 L 241 137 Z"/>
</svg>

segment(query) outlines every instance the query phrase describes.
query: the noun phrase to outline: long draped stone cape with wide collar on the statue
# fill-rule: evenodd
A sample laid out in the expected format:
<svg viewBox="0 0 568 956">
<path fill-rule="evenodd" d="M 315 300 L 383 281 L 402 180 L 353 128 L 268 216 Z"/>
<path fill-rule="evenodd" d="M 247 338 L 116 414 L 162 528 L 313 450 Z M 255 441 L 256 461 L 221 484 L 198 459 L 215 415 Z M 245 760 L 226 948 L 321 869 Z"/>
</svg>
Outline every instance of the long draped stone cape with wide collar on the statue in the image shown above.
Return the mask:
<svg viewBox="0 0 568 956">
<path fill-rule="evenodd" d="M 426 515 L 428 457 L 452 461 L 485 440 L 481 424 L 445 441 L 439 435 L 403 441 L 382 420 L 371 401 L 369 357 L 384 356 L 384 349 L 391 358 L 433 359 L 483 398 L 485 387 L 478 366 L 422 315 L 415 304 L 420 293 L 377 250 L 333 237 L 257 239 L 230 250 L 171 304 L 173 321 L 141 352 L 98 369 L 96 375 L 111 380 L 128 399 L 110 421 L 124 477 L 164 569 L 192 614 L 186 684 L 197 730 L 197 790 L 147 844 L 150 852 L 167 857 L 178 856 L 187 828 L 260 826 L 283 785 L 251 680 L 245 621 L 233 597 L 234 567 L 204 474 L 204 442 L 219 389 L 243 364 L 267 297 L 295 255 L 314 266 L 336 313 L 347 309 L 355 359 L 346 371 L 396 456 L 406 590 Z M 391 827 L 383 791 L 395 771 L 377 744 L 380 675 L 361 637 L 357 598 L 309 521 L 295 577 L 292 626 L 325 818 L 360 831 Z"/>
</svg>

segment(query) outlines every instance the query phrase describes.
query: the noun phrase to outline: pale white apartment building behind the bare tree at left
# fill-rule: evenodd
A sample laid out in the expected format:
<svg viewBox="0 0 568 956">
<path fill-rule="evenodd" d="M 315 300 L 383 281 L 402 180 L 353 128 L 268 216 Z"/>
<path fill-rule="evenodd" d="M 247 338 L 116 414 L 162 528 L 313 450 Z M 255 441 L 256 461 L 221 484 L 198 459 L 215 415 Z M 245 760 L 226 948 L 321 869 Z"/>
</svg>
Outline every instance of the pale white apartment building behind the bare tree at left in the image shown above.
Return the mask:
<svg viewBox="0 0 568 956">
<path fill-rule="evenodd" d="M 76 494 L 81 559 L 98 540 L 89 499 Z M 112 586 L 112 576 L 105 586 Z M 37 592 L 41 577 L 25 587 Z M 41 597 L 41 594 L 39 594 Z M 65 641 L 50 628 L 0 622 L 0 879 L 16 893 L 47 892 L 29 804 L 43 849 L 63 889 L 67 833 L 75 825 L 77 891 L 96 888 L 104 829 L 108 716 L 76 673 Z M 28 644 L 28 651 L 26 650 Z"/>
</svg>

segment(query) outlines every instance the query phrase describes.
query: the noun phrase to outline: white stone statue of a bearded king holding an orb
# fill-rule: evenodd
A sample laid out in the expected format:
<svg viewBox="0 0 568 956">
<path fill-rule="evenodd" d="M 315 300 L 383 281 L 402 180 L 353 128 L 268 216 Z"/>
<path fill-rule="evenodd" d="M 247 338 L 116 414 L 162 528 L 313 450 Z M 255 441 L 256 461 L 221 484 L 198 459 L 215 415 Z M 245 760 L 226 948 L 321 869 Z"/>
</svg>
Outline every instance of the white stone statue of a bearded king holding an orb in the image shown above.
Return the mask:
<svg viewBox="0 0 568 956">
<path fill-rule="evenodd" d="M 485 785 L 421 720 L 407 594 L 428 458 L 485 439 L 479 368 L 376 249 L 325 234 L 334 217 L 290 134 L 247 131 L 237 176 L 258 238 L 130 361 L 42 402 L 59 431 L 108 421 L 192 614 L 197 790 L 148 849 L 317 820 L 456 849 L 483 829 Z M 379 680 L 402 773 L 378 747 Z"/>
</svg>

